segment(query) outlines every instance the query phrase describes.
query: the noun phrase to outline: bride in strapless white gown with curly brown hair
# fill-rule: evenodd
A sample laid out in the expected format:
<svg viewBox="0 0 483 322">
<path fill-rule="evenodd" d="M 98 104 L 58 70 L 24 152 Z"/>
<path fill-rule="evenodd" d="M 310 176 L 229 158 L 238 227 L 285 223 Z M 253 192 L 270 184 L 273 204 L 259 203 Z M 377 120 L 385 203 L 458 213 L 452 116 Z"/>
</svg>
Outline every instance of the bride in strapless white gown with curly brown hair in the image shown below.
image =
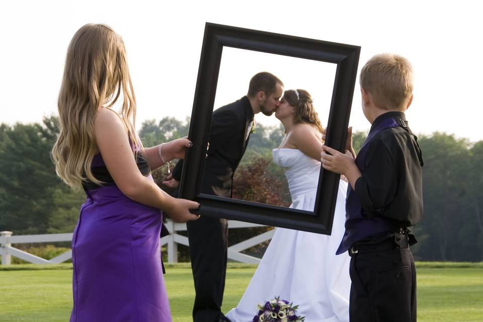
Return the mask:
<svg viewBox="0 0 483 322">
<path fill-rule="evenodd" d="M 285 91 L 275 111 L 285 128 L 274 162 L 285 169 L 292 205 L 313 210 L 320 171 L 322 126 L 304 90 Z M 306 322 L 349 321 L 350 257 L 336 256 L 344 234 L 347 183 L 341 181 L 332 235 L 277 228 L 245 294 L 227 314 L 251 322 L 257 304 L 275 296 L 298 305 Z"/>
</svg>

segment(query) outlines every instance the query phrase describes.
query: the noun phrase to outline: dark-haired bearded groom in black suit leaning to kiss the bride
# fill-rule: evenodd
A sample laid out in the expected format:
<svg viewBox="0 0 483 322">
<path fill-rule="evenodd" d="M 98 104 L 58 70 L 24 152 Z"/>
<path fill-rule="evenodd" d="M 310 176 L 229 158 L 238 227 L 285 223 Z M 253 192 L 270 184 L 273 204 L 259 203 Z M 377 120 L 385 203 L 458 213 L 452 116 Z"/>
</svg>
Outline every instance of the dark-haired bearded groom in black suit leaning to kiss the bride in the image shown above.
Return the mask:
<svg viewBox="0 0 483 322">
<path fill-rule="evenodd" d="M 245 153 L 255 114 L 270 116 L 280 104 L 283 83 L 269 72 L 252 77 L 248 94 L 213 112 L 210 147 L 206 158 L 201 193 L 231 198 L 233 174 Z M 183 160 L 164 182 L 176 187 Z M 195 281 L 194 322 L 228 321 L 221 312 L 225 286 L 228 224 L 226 219 L 202 216 L 187 223 L 191 267 Z"/>
</svg>

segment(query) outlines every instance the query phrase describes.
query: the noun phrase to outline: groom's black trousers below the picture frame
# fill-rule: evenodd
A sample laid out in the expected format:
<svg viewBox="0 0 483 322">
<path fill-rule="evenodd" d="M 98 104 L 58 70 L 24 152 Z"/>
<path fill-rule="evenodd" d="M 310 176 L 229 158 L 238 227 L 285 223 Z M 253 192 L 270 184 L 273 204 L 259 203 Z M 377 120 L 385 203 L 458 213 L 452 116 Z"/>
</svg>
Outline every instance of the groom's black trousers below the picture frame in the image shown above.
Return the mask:
<svg viewBox="0 0 483 322">
<path fill-rule="evenodd" d="M 201 216 L 187 223 L 191 268 L 195 281 L 194 322 L 225 318 L 221 302 L 225 288 L 228 223 L 226 219 Z"/>
</svg>

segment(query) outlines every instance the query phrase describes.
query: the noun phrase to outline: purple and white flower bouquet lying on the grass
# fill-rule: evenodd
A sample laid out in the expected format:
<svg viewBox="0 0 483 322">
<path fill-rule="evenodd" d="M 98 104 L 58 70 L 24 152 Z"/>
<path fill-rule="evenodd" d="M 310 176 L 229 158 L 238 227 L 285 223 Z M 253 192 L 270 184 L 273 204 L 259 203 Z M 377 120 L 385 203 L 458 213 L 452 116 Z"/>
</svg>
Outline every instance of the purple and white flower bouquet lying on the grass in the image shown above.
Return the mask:
<svg viewBox="0 0 483 322">
<path fill-rule="evenodd" d="M 258 304 L 258 313 L 253 317 L 253 322 L 303 322 L 305 316 L 298 316 L 296 310 L 298 305 L 292 306 L 292 303 L 275 297 L 264 305 Z"/>
</svg>

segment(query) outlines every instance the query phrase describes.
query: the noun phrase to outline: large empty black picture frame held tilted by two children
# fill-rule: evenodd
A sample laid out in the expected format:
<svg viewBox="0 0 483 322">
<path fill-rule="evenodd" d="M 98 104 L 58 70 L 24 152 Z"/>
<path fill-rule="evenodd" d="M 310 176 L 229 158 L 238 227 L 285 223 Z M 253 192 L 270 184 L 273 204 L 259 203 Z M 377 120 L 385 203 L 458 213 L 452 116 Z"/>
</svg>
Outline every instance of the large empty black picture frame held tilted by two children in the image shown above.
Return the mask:
<svg viewBox="0 0 483 322">
<path fill-rule="evenodd" d="M 340 176 L 320 168 L 314 211 L 200 194 L 223 47 L 255 50 L 337 64 L 326 145 L 345 147 L 360 46 L 206 23 L 180 197 L 200 203 L 194 213 L 331 234 Z"/>
</svg>

